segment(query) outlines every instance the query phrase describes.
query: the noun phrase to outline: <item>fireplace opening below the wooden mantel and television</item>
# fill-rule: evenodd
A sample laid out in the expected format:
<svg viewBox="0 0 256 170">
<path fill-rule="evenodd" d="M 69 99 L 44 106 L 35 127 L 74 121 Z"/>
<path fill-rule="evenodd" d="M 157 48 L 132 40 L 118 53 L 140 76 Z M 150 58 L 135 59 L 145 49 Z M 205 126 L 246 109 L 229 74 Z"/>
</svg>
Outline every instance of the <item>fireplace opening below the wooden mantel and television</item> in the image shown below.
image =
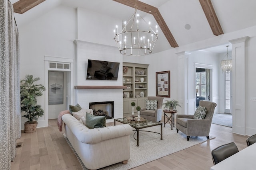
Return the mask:
<svg viewBox="0 0 256 170">
<path fill-rule="evenodd" d="M 89 108 L 93 110 L 93 115 L 107 116 L 107 119 L 114 118 L 114 101 L 109 102 L 92 102 Z"/>
</svg>

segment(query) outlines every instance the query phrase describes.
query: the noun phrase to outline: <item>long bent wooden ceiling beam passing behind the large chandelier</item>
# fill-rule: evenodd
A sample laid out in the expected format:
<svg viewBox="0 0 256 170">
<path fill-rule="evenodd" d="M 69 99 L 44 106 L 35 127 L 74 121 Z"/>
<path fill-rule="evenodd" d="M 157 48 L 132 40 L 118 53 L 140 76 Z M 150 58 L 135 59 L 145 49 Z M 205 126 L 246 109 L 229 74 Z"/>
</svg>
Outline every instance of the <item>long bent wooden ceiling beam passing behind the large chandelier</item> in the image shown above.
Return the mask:
<svg viewBox="0 0 256 170">
<path fill-rule="evenodd" d="M 124 4 L 126 6 L 130 6 L 132 8 L 134 8 L 134 5 L 135 5 L 135 0 L 132 2 L 131 0 L 113 0 L 113 1 L 119 2 L 120 4 Z M 176 40 L 174 39 L 170 29 L 168 28 L 166 22 L 164 21 L 164 18 L 162 17 L 158 9 L 154 6 L 145 4 L 144 2 L 140 2 L 138 0 L 137 0 L 137 6 L 138 6 L 137 8 L 138 10 L 146 12 L 148 14 L 152 14 L 156 22 L 158 23 L 160 29 L 164 33 L 166 39 L 170 43 L 171 47 L 174 47 L 174 48 L 178 47 Z"/>
</svg>

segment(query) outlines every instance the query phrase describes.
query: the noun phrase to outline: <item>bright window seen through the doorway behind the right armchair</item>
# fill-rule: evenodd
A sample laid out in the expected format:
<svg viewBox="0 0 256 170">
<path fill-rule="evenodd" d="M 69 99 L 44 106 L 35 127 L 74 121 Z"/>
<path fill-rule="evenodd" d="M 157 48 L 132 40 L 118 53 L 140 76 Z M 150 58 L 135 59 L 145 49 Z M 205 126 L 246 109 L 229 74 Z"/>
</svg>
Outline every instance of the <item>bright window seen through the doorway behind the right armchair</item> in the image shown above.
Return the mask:
<svg viewBox="0 0 256 170">
<path fill-rule="evenodd" d="M 203 72 L 196 72 L 196 89 L 198 89 L 198 95 L 201 97 L 205 97 L 206 93 L 206 77 L 205 71 Z"/>
</svg>

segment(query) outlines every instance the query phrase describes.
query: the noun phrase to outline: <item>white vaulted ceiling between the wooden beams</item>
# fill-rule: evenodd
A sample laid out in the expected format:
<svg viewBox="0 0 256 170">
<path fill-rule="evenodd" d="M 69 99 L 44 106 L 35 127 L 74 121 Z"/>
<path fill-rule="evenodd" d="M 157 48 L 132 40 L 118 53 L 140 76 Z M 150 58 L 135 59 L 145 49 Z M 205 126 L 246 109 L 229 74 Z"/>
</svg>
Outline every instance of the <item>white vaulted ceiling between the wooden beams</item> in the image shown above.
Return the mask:
<svg viewBox="0 0 256 170">
<path fill-rule="evenodd" d="M 18 0 L 10 1 L 13 4 Z M 215 37 L 210 29 L 199 0 L 140 1 L 158 8 L 179 46 Z M 211 0 L 211 2 L 224 34 L 256 25 L 256 0 Z M 16 22 L 18 25 L 22 26 L 30 20 L 35 20 L 40 15 L 54 10 L 54 8 L 59 5 L 72 8 L 85 8 L 124 20 L 130 18 L 134 12 L 134 8 L 112 0 L 46 0 L 24 14 L 15 13 Z M 156 23 L 152 15 L 144 12 L 140 12 L 140 15 L 142 15 L 145 20 L 150 21 L 152 25 Z M 191 28 L 186 29 L 186 24 L 189 24 Z M 159 38 L 154 47 L 154 53 L 171 49 L 172 47 L 166 40 L 162 31 L 159 31 L 158 35 Z M 208 50 L 223 53 L 226 52 L 226 45 L 210 48 Z"/>
</svg>

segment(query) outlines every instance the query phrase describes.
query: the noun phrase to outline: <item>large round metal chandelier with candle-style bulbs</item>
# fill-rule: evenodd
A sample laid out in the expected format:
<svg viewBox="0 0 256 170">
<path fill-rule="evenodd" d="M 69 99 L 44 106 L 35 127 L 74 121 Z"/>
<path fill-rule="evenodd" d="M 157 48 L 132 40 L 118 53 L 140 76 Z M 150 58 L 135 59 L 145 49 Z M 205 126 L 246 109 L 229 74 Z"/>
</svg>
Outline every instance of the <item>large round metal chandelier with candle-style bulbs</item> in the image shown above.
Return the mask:
<svg viewBox="0 0 256 170">
<path fill-rule="evenodd" d="M 122 55 L 148 55 L 152 53 L 156 40 L 158 39 L 157 25 L 154 31 L 150 27 L 150 22 L 146 23 L 146 21 L 138 14 L 137 0 L 135 1 L 134 8 L 134 14 L 127 23 L 124 21 L 124 27 L 120 33 L 118 33 L 118 25 L 116 25 L 116 29 L 114 29 L 114 40 L 118 43 L 118 48 Z M 139 23 L 144 23 L 144 25 L 139 25 Z M 142 28 L 147 30 L 143 31 Z"/>
</svg>

